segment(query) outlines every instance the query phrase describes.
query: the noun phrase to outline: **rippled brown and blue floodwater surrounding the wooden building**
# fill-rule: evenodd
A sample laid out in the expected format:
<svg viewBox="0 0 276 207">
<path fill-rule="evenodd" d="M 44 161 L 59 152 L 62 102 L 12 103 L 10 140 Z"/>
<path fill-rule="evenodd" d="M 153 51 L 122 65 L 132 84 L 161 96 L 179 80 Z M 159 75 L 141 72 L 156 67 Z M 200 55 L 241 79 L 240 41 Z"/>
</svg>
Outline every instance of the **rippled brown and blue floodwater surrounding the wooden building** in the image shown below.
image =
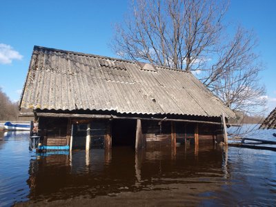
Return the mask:
<svg viewBox="0 0 276 207">
<path fill-rule="evenodd" d="M 0 131 L 0 206 L 275 206 L 276 152 L 219 146 L 47 154 Z"/>
</svg>

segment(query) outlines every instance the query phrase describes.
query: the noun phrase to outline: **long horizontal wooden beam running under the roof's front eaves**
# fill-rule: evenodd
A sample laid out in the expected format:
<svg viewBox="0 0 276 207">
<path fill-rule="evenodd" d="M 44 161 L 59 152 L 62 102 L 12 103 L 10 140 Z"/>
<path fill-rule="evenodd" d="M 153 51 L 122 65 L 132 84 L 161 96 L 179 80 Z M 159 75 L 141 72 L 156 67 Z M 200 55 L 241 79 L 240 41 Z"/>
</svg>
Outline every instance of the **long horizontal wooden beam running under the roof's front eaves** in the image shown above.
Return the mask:
<svg viewBox="0 0 276 207">
<path fill-rule="evenodd" d="M 88 114 L 66 114 L 66 113 L 48 113 L 48 112 L 37 112 L 38 117 L 70 117 L 70 118 L 84 118 L 84 119 L 141 119 L 141 120 L 152 120 L 152 121 L 180 121 L 189 123 L 203 123 L 203 124 L 215 124 L 221 125 L 220 122 L 215 121 L 199 121 L 190 119 L 165 119 L 165 118 L 142 118 L 142 117 L 119 117 L 116 115 L 88 115 Z"/>
</svg>

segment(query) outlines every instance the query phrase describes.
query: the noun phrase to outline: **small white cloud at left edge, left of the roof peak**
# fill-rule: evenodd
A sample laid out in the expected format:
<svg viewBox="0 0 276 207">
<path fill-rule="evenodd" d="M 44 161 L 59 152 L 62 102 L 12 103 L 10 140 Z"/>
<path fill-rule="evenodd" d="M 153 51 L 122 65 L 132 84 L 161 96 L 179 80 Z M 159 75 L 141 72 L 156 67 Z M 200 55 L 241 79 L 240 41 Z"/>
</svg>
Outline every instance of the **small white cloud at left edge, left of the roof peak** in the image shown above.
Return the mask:
<svg viewBox="0 0 276 207">
<path fill-rule="evenodd" d="M 21 60 L 22 58 L 23 56 L 14 50 L 12 46 L 0 43 L 0 63 L 9 64 L 14 59 Z"/>
</svg>

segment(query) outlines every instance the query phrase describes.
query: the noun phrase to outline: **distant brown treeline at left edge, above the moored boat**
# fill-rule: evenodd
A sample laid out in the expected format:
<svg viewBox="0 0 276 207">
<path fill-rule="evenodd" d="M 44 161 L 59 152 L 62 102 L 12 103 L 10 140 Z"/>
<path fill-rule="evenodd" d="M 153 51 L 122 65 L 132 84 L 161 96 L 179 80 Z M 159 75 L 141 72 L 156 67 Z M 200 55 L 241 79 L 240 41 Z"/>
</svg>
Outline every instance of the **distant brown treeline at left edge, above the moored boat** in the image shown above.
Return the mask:
<svg viewBox="0 0 276 207">
<path fill-rule="evenodd" d="M 0 88 L 0 120 L 18 120 L 18 103 L 12 103 L 5 92 Z"/>
</svg>

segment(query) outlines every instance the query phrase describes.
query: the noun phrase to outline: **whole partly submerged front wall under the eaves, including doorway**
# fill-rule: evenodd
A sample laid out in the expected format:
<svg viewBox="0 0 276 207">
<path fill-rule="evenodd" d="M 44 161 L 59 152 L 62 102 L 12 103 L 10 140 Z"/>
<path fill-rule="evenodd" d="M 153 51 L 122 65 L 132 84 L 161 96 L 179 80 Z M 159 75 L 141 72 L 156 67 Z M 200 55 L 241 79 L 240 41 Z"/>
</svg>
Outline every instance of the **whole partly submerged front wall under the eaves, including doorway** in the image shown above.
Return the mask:
<svg viewBox="0 0 276 207">
<path fill-rule="evenodd" d="M 118 119 L 40 117 L 39 133 L 43 138 L 42 144 L 45 146 L 72 145 L 72 149 L 84 149 L 87 148 L 88 143 L 89 148 L 110 148 L 112 138 L 114 138 L 113 146 L 124 144 L 124 142 L 135 146 L 136 120 L 128 121 L 129 126 L 126 126 L 126 119 L 119 120 L 121 121 Z M 130 128 L 132 129 L 130 130 Z M 130 132 L 124 133 L 128 130 Z M 221 125 L 181 121 L 141 120 L 141 133 L 144 145 L 153 148 L 172 145 L 215 144 L 215 141 L 220 142 L 222 137 Z M 124 134 L 127 137 L 118 141 L 118 137 L 120 138 Z M 73 138 L 72 142 L 70 142 L 71 137 Z M 126 141 L 126 139 L 132 140 Z"/>
</svg>

